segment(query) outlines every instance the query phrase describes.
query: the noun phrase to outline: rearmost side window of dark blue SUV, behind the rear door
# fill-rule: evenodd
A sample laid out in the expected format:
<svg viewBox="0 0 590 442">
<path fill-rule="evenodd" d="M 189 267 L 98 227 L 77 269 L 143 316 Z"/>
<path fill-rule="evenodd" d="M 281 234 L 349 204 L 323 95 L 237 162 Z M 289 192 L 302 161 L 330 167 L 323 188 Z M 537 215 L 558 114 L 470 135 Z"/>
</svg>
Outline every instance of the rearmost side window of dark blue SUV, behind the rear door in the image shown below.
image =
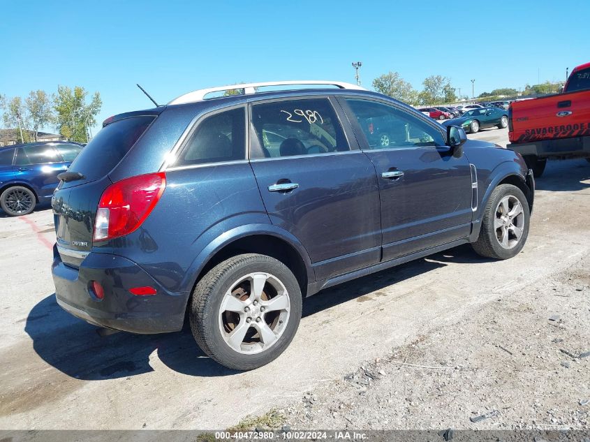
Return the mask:
<svg viewBox="0 0 590 442">
<path fill-rule="evenodd" d="M 174 165 L 246 159 L 246 111 L 227 110 L 206 117 L 191 135 Z"/>
</svg>

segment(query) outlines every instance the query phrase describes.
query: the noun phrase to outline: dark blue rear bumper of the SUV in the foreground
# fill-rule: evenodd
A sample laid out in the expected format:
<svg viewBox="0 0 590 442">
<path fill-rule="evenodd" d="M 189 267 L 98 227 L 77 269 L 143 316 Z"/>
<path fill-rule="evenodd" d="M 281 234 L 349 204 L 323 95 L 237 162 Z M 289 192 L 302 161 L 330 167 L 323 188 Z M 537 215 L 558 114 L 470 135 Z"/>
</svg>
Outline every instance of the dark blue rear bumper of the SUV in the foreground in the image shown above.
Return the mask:
<svg viewBox="0 0 590 442">
<path fill-rule="evenodd" d="M 189 294 L 166 291 L 131 260 L 89 253 L 76 269 L 64 264 L 54 246 L 52 276 L 57 303 L 91 324 L 142 334 L 182 329 Z M 89 281 L 101 283 L 103 300 L 89 293 Z M 136 296 L 128 291 L 141 286 L 156 288 L 156 295 Z"/>
</svg>

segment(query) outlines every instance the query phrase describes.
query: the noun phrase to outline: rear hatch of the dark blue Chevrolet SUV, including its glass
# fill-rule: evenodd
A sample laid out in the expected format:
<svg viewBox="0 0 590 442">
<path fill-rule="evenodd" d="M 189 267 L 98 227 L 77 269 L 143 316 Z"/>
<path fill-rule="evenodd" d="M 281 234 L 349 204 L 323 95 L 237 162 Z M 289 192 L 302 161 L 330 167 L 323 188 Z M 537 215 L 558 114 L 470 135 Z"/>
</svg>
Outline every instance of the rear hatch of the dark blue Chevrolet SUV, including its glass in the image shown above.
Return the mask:
<svg viewBox="0 0 590 442">
<path fill-rule="evenodd" d="M 161 110 L 111 117 L 82 149 L 52 198 L 57 249 L 61 260 L 78 267 L 92 246 L 94 221 L 101 195 L 112 182 L 108 174 L 131 150 Z"/>
</svg>

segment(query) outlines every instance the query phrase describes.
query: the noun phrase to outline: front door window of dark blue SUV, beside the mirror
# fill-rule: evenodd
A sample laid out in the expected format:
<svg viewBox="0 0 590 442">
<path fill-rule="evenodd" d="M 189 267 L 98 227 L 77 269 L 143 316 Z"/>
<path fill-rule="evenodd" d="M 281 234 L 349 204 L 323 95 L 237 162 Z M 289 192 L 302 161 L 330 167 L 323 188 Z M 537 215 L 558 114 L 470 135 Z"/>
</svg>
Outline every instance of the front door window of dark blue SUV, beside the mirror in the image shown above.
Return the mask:
<svg viewBox="0 0 590 442">
<path fill-rule="evenodd" d="M 410 112 L 376 101 L 347 98 L 369 149 L 443 146 L 440 131 Z"/>
</svg>

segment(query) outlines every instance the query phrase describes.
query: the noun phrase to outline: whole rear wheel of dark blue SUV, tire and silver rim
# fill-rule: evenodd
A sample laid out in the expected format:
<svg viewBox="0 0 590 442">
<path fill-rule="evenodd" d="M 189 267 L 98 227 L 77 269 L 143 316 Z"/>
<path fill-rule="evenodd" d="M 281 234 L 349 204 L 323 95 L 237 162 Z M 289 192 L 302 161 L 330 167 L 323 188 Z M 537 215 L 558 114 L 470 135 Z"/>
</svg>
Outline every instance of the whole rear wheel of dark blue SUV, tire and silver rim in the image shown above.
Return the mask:
<svg viewBox="0 0 590 442">
<path fill-rule="evenodd" d="M 197 283 L 190 309 L 191 330 L 202 351 L 230 369 L 251 370 L 290 344 L 302 297 L 286 265 L 247 253 L 210 270 Z"/>
</svg>

